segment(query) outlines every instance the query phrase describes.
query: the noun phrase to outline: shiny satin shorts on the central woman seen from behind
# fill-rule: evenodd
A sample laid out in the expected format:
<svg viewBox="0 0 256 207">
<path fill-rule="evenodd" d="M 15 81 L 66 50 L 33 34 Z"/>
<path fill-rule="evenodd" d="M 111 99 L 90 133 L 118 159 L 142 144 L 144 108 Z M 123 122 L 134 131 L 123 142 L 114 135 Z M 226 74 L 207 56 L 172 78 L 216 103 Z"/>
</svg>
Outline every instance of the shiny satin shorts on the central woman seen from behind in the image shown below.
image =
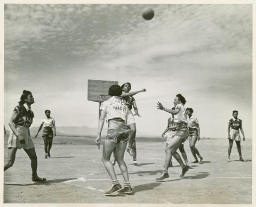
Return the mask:
<svg viewBox="0 0 256 207">
<path fill-rule="evenodd" d="M 122 119 L 110 119 L 108 121 L 108 131 L 106 139 L 118 143 L 127 143 L 129 140 L 130 129 Z"/>
</svg>

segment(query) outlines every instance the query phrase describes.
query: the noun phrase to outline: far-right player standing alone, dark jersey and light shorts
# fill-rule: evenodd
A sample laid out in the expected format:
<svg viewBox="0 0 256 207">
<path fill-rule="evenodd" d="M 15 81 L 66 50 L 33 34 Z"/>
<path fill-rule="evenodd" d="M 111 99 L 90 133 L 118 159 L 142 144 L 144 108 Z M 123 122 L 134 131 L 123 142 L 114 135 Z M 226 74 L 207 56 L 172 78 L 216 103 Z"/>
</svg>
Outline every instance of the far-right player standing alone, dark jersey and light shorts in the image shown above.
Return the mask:
<svg viewBox="0 0 256 207">
<path fill-rule="evenodd" d="M 230 153 L 231 149 L 233 146 L 233 142 L 235 140 L 236 146 L 237 146 L 237 151 L 239 154 L 239 161 L 241 162 L 246 162 L 242 158 L 242 152 L 241 152 L 241 137 L 239 134 L 239 129 L 241 130 L 241 133 L 243 135 L 243 141 L 245 141 L 245 136 L 244 136 L 244 130 L 242 127 L 242 120 L 237 118 L 238 116 L 238 111 L 233 111 L 233 118 L 229 120 L 228 122 L 228 141 L 229 141 L 229 146 L 228 146 L 228 162 L 230 162 Z M 231 128 L 231 130 L 230 130 Z"/>
</svg>

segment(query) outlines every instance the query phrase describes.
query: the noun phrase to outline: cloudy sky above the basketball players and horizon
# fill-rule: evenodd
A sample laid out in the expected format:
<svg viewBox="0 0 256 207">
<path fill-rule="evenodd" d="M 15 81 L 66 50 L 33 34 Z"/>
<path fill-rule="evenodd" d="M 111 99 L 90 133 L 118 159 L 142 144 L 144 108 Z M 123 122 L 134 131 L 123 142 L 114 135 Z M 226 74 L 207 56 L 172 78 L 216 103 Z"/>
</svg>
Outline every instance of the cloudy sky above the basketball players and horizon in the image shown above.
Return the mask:
<svg viewBox="0 0 256 207">
<path fill-rule="evenodd" d="M 144 20 L 145 7 L 155 11 Z M 87 82 L 131 82 L 137 130 L 161 136 L 175 95 L 194 109 L 201 137 L 227 137 L 238 110 L 252 137 L 251 4 L 5 4 L 4 124 L 22 90 L 33 127 L 50 109 L 58 126 L 98 127 Z M 57 129 L 58 132 L 58 129 Z"/>
</svg>

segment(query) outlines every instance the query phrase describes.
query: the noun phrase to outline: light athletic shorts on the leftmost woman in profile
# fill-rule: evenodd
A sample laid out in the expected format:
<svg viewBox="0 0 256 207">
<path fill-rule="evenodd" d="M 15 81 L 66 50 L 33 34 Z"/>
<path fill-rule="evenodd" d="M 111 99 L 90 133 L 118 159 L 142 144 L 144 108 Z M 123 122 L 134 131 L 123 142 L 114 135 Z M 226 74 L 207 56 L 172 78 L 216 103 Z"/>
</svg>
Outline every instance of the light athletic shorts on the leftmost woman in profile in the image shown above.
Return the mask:
<svg viewBox="0 0 256 207">
<path fill-rule="evenodd" d="M 19 132 L 19 138 L 25 139 L 25 144 L 21 144 L 19 139 L 11 131 L 11 133 L 9 135 L 9 139 L 8 139 L 7 148 L 18 148 L 18 149 L 24 148 L 26 150 L 33 148 L 34 143 L 33 143 L 33 140 L 31 139 L 31 137 L 29 136 L 29 128 L 19 126 L 19 125 L 15 125 L 15 128 Z"/>
</svg>

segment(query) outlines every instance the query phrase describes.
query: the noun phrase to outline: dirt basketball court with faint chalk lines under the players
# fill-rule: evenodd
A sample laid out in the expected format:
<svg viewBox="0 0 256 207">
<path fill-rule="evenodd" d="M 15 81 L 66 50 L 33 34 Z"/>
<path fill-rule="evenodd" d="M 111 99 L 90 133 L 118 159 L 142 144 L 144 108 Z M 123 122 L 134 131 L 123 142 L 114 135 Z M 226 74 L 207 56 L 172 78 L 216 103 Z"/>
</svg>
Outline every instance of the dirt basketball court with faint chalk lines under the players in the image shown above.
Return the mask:
<svg viewBox="0 0 256 207">
<path fill-rule="evenodd" d="M 4 161 L 7 158 L 4 137 Z M 102 150 L 89 137 L 55 137 L 49 159 L 44 159 L 42 138 L 34 139 L 38 156 L 38 176 L 47 183 L 31 181 L 30 161 L 23 150 L 17 152 L 12 168 L 4 172 L 4 203 L 174 203 L 174 204 L 252 204 L 252 140 L 242 142 L 243 158 L 239 162 L 235 143 L 231 162 L 227 162 L 227 139 L 202 139 L 197 148 L 204 158 L 195 164 L 183 179 L 181 169 L 173 160 L 170 178 L 155 181 L 163 169 L 165 143 L 163 138 L 138 138 L 140 166 L 132 165 L 125 153 L 133 195 L 104 196 L 111 180 L 101 162 Z M 65 145 L 66 142 L 66 145 Z M 72 142 L 72 144 L 71 144 Z M 60 145 L 60 143 L 62 143 Z M 102 148 L 102 147 L 101 147 Z M 185 150 L 193 161 L 188 142 Z M 115 170 L 121 185 L 123 178 L 118 165 Z"/>
</svg>

